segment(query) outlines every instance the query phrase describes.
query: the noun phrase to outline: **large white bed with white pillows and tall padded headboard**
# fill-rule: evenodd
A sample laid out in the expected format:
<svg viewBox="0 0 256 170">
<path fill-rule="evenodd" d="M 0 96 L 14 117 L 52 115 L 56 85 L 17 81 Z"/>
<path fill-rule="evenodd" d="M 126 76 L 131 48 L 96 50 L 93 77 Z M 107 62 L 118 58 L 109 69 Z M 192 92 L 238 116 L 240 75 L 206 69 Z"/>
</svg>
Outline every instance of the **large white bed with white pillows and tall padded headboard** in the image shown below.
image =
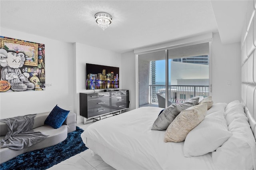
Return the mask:
<svg viewBox="0 0 256 170">
<path fill-rule="evenodd" d="M 181 113 L 166 130 L 152 130 L 162 115 L 157 107 L 141 107 L 93 123 L 81 134 L 83 142 L 118 170 L 256 170 L 256 13 L 246 24 L 239 101 L 207 105 L 204 119 L 180 142 L 167 141 L 179 129 L 173 130 L 171 124 Z"/>
</svg>

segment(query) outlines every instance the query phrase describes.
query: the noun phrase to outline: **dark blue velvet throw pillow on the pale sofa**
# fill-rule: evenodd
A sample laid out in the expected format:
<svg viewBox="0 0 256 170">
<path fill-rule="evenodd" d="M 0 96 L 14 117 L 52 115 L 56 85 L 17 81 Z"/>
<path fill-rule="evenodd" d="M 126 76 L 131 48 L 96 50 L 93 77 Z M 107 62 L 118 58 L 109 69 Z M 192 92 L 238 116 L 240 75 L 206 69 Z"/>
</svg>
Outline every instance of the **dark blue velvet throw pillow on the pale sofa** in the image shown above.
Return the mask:
<svg viewBox="0 0 256 170">
<path fill-rule="evenodd" d="M 60 128 L 66 120 L 68 113 L 69 111 L 61 109 L 56 105 L 45 119 L 44 124 L 50 125 L 53 128 Z"/>
</svg>

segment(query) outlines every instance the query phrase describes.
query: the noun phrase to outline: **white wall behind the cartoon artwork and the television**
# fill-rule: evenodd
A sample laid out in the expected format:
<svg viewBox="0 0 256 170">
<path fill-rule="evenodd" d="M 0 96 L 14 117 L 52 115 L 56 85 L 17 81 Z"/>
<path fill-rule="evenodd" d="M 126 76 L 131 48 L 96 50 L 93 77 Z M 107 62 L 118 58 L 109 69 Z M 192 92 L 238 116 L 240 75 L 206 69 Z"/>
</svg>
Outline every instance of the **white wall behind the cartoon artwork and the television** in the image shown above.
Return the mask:
<svg viewBox="0 0 256 170">
<path fill-rule="evenodd" d="M 1 119 L 51 111 L 56 104 L 80 115 L 79 93 L 93 92 L 86 90 L 86 63 L 120 67 L 120 82 L 122 81 L 120 53 L 81 43 L 60 42 L 6 28 L 1 28 L 1 36 L 44 43 L 46 83 L 51 84 L 45 91 L 1 93 Z M 82 118 L 79 120 L 82 121 Z"/>
</svg>

